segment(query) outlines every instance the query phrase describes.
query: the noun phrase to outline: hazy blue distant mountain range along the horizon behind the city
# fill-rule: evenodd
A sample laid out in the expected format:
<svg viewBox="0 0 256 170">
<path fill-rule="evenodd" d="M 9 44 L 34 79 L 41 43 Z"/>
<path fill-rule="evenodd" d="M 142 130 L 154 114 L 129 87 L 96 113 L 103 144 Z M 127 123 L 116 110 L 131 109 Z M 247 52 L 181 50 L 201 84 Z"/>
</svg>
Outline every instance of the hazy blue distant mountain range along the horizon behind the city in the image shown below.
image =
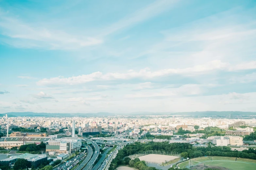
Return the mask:
<svg viewBox="0 0 256 170">
<path fill-rule="evenodd" d="M 18 117 L 18 116 L 39 116 L 39 117 L 72 117 L 72 116 L 115 116 L 115 115 L 190 115 L 190 116 L 228 116 L 228 115 L 256 115 L 256 112 L 240 112 L 240 111 L 204 111 L 204 112 L 132 112 L 132 113 L 108 113 L 108 112 L 98 112 L 98 113 L 34 113 L 34 112 L 9 112 L 0 114 L 0 117 L 8 114 L 8 117 Z"/>
</svg>

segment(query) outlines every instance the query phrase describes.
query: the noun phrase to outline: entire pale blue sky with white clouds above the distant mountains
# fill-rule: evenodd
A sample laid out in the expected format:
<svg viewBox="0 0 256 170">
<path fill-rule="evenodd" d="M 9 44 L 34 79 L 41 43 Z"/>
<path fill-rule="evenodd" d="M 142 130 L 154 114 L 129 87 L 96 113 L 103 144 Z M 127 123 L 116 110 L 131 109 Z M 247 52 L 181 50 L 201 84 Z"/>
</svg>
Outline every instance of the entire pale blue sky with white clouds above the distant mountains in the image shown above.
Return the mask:
<svg viewBox="0 0 256 170">
<path fill-rule="evenodd" d="M 256 112 L 255 0 L 0 0 L 0 113 Z"/>
</svg>

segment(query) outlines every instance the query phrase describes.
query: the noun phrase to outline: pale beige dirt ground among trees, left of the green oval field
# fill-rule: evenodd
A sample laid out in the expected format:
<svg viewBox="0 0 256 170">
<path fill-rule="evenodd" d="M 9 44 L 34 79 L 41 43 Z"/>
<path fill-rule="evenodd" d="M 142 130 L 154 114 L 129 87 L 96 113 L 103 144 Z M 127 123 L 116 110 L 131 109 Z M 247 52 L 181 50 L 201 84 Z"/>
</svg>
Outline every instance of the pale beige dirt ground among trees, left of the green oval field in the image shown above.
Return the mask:
<svg viewBox="0 0 256 170">
<path fill-rule="evenodd" d="M 165 163 L 166 161 L 172 161 L 179 156 L 169 156 L 169 155 L 157 155 L 157 154 L 148 154 L 138 157 L 141 161 L 151 162 L 151 163 Z"/>
</svg>

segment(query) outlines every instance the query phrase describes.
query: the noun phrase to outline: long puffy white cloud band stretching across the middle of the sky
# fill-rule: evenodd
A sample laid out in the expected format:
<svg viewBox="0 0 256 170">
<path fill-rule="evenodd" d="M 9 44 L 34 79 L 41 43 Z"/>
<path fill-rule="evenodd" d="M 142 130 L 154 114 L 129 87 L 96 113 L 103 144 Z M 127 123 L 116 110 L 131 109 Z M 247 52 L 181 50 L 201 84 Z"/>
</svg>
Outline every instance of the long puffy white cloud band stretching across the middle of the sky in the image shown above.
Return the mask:
<svg viewBox="0 0 256 170">
<path fill-rule="evenodd" d="M 252 63 L 252 62 L 250 62 Z M 246 63 L 245 63 L 246 65 Z M 238 67 L 241 69 L 248 69 L 248 67 Z M 214 70 L 227 70 L 231 71 L 238 69 L 236 66 L 231 66 L 229 63 L 223 63 L 219 60 L 213 60 L 205 64 L 196 65 L 188 68 L 181 69 L 162 69 L 158 71 L 150 71 L 149 68 L 141 69 L 139 72 L 129 70 L 127 73 L 106 73 L 94 72 L 88 75 L 73 76 L 69 78 L 55 77 L 55 78 L 44 78 L 37 82 L 40 86 L 52 86 L 52 85 L 76 85 L 96 80 L 115 80 L 115 79 L 132 79 L 132 78 L 157 78 L 162 76 L 169 76 L 174 74 L 180 74 L 184 76 L 193 76 L 195 74 L 206 74 Z M 250 67 L 252 69 L 252 67 Z"/>
</svg>

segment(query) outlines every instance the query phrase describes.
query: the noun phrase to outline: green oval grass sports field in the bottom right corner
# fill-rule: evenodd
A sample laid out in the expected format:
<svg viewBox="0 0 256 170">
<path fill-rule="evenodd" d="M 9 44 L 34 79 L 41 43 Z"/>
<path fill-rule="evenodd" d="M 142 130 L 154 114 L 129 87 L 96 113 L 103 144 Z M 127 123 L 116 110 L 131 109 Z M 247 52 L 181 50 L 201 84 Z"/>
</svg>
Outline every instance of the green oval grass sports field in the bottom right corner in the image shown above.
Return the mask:
<svg viewBox="0 0 256 170">
<path fill-rule="evenodd" d="M 205 161 L 209 161 L 209 162 L 205 162 Z M 191 167 L 191 169 L 196 169 L 196 170 L 204 169 L 204 164 L 206 168 L 216 168 L 221 170 L 256 169 L 256 160 L 234 158 L 234 157 L 221 157 L 221 156 L 198 157 L 198 158 L 191 159 L 189 161 L 179 163 L 177 164 L 177 166 L 180 168 L 185 168 L 187 165 L 189 165 L 190 162 L 191 162 L 191 165 L 195 165 Z M 198 164 L 198 163 L 201 163 L 201 164 Z M 253 164 L 250 164 L 250 163 L 253 163 Z"/>
</svg>

